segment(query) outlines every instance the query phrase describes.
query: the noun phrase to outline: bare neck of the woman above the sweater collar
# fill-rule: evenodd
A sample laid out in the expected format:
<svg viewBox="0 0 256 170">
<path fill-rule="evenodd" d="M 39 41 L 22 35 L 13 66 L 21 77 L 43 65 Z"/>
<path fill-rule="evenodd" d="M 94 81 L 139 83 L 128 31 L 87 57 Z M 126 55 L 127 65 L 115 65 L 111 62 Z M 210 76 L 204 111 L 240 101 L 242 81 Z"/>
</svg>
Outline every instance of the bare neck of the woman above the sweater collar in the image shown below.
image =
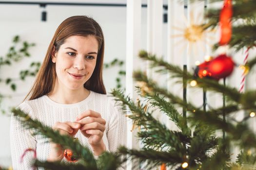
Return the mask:
<svg viewBox="0 0 256 170">
<path fill-rule="evenodd" d="M 48 95 L 48 97 L 54 101 L 61 104 L 73 104 L 81 102 L 86 99 L 90 94 L 90 91 L 82 87 L 81 89 L 71 90 L 66 88 L 58 88 L 55 86 L 53 92 Z"/>
</svg>

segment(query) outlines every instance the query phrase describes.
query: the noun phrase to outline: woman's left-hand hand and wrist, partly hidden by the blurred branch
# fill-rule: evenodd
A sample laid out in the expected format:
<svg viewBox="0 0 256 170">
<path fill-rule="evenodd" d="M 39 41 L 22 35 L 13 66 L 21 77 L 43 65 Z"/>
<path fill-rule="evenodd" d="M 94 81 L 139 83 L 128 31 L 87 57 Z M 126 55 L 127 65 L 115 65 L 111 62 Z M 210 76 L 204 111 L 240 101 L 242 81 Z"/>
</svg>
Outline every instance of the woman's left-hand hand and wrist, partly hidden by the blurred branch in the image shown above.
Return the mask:
<svg viewBox="0 0 256 170">
<path fill-rule="evenodd" d="M 58 130 L 60 135 L 69 135 L 69 136 L 75 136 L 80 128 L 80 124 L 78 122 L 56 122 L 53 125 L 54 130 Z M 50 148 L 51 152 L 49 154 L 49 157 L 47 158 L 47 161 L 60 161 L 63 158 L 63 148 L 56 143 L 50 142 Z"/>
</svg>

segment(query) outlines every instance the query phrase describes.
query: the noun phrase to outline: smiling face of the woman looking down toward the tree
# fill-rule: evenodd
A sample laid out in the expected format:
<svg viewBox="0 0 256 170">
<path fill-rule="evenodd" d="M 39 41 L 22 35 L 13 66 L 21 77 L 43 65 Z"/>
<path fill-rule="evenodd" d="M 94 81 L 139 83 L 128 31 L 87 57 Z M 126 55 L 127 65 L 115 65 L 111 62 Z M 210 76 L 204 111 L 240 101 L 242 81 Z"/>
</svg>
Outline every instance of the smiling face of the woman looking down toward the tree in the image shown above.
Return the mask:
<svg viewBox="0 0 256 170">
<path fill-rule="evenodd" d="M 97 61 L 98 41 L 92 36 L 73 35 L 52 52 L 56 63 L 57 83 L 75 90 L 92 76 Z"/>
</svg>

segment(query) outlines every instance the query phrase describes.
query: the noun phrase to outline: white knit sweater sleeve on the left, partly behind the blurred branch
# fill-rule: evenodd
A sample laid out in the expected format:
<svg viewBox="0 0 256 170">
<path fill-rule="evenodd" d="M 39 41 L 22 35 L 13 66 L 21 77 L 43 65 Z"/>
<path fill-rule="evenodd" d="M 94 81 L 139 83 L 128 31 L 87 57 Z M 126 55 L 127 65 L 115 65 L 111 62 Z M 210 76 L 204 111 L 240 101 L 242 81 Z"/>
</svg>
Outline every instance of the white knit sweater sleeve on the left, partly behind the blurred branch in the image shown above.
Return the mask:
<svg viewBox="0 0 256 170">
<path fill-rule="evenodd" d="M 18 108 L 23 112 L 31 115 L 31 107 L 26 103 L 21 103 Z M 30 130 L 25 129 L 20 121 L 12 115 L 10 123 L 10 141 L 11 141 L 11 156 L 13 170 L 31 170 L 34 163 L 34 153 L 27 152 L 21 162 L 21 156 L 28 148 L 36 150 L 36 140 L 32 136 Z"/>
</svg>

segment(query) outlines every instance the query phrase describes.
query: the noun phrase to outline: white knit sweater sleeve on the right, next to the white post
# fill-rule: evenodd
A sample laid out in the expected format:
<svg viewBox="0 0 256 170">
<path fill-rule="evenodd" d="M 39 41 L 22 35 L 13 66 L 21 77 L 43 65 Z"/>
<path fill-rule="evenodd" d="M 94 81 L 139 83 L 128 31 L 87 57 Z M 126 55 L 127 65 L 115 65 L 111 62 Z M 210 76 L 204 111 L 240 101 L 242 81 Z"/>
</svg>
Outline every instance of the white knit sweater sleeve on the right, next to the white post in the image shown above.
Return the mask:
<svg viewBox="0 0 256 170">
<path fill-rule="evenodd" d="M 110 121 L 108 124 L 107 138 L 109 151 L 116 152 L 118 147 L 127 146 L 127 120 L 121 109 L 121 103 L 111 100 L 109 104 Z M 126 169 L 122 165 L 118 170 Z"/>
</svg>

